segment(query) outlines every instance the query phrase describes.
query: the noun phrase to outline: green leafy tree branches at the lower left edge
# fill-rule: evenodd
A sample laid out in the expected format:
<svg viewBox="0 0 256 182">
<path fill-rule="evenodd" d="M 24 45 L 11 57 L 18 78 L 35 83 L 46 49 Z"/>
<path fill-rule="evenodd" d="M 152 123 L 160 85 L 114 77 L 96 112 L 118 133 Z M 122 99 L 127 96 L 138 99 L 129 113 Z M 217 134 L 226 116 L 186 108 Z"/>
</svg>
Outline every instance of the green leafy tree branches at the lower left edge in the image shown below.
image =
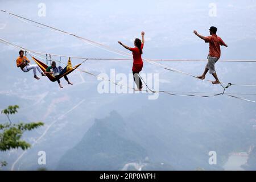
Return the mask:
<svg viewBox="0 0 256 182">
<path fill-rule="evenodd" d="M 9 106 L 7 109 L 1 111 L 9 119 L 9 123 L 0 124 L 0 151 L 7 151 L 13 148 L 22 148 L 26 150 L 31 145 L 25 140 L 22 140 L 22 135 L 24 131 L 30 131 L 43 126 L 43 122 L 31 122 L 31 123 L 17 123 L 13 124 L 9 118 L 10 114 L 15 114 L 18 112 L 19 106 Z M 6 166 L 5 161 L 0 162 L 1 166 Z"/>
</svg>

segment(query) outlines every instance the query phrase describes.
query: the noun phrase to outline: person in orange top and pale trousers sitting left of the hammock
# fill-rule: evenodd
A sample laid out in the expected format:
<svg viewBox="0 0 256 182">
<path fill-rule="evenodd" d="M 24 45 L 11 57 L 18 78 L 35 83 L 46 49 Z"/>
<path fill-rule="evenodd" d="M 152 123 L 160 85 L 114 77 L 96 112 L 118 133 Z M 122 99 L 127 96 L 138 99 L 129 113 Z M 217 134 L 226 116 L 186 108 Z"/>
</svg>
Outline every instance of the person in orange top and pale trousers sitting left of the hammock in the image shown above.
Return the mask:
<svg viewBox="0 0 256 182">
<path fill-rule="evenodd" d="M 20 68 L 25 73 L 29 72 L 31 69 L 33 69 L 34 78 L 36 78 L 36 80 L 40 79 L 38 76 L 36 76 L 36 69 L 39 71 L 39 73 L 41 73 L 42 76 L 46 76 L 46 75 L 44 75 L 44 73 L 42 72 L 42 70 L 39 68 L 38 65 L 29 64 L 29 63 L 30 63 L 30 60 L 28 60 L 27 57 L 24 56 L 24 51 L 20 50 L 19 57 L 16 59 L 17 67 Z"/>
</svg>

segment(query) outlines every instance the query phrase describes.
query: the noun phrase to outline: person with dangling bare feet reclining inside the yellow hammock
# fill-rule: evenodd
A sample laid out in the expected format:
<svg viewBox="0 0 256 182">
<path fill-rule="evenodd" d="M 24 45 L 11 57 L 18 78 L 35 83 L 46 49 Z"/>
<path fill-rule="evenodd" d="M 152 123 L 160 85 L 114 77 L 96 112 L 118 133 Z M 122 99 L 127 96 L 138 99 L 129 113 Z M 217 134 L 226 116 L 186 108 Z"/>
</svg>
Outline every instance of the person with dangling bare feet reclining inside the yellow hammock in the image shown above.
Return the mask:
<svg viewBox="0 0 256 182">
<path fill-rule="evenodd" d="M 58 77 L 60 77 L 61 75 L 63 75 L 65 72 L 67 71 L 67 67 L 65 67 L 64 69 L 59 66 L 59 67 L 56 67 L 56 62 L 55 61 L 52 61 L 51 63 L 51 66 L 48 67 L 46 69 L 46 72 L 44 72 L 45 74 L 52 74 L 55 78 L 57 78 L 57 82 L 58 84 L 60 85 L 60 88 L 63 88 L 63 86 L 60 84 L 60 79 L 58 79 Z M 69 85 L 73 85 L 72 82 L 70 82 L 68 80 L 68 77 L 67 75 L 64 76 L 65 80 L 67 80 L 68 84 Z"/>
</svg>

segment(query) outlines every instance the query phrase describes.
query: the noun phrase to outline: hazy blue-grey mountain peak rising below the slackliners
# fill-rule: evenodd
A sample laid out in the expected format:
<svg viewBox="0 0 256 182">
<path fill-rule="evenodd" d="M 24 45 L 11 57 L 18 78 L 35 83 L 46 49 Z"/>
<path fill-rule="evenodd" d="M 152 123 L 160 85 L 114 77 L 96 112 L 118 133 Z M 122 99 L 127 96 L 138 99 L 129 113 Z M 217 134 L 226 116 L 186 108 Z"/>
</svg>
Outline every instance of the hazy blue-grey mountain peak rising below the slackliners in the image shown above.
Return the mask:
<svg viewBox="0 0 256 182">
<path fill-rule="evenodd" d="M 143 147 L 122 137 L 126 130 L 122 117 L 112 112 L 96 119 L 82 140 L 60 159 L 60 170 L 120 170 L 126 163 L 147 157 Z"/>
</svg>

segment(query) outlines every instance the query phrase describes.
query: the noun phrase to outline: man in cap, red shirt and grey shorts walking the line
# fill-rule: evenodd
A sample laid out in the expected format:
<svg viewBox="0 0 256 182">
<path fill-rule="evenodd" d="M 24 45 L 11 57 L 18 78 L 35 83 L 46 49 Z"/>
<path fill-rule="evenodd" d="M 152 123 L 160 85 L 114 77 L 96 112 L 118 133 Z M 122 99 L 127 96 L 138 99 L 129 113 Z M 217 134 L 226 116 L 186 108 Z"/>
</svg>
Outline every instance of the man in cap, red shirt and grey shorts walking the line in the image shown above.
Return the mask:
<svg viewBox="0 0 256 182">
<path fill-rule="evenodd" d="M 203 39 L 205 43 L 209 43 L 208 63 L 205 67 L 203 75 L 198 76 L 197 78 L 204 80 L 205 75 L 209 71 L 209 73 L 212 74 L 213 77 L 216 79 L 216 81 L 212 81 L 212 84 L 220 84 L 214 66 L 221 56 L 220 46 L 228 47 L 228 45 L 219 36 L 216 35 L 217 30 L 218 29 L 216 27 L 210 27 L 210 36 L 207 37 L 197 34 L 197 31 L 194 30 L 194 34 L 199 36 L 199 38 Z"/>
</svg>

